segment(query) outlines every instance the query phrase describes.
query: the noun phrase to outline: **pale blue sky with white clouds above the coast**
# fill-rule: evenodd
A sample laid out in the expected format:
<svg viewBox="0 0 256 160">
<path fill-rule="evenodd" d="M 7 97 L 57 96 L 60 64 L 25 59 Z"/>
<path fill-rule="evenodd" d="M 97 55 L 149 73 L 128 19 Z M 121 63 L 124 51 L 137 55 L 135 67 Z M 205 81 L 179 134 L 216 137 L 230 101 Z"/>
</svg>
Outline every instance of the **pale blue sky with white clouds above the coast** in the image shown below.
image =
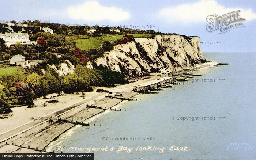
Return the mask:
<svg viewBox="0 0 256 160">
<path fill-rule="evenodd" d="M 241 10 L 243 27 L 208 32 L 208 15 Z M 255 52 L 255 0 L 1 0 L 0 20 L 124 26 L 199 36 L 202 52 Z M 148 27 L 148 28 L 147 28 Z M 217 44 L 217 41 L 219 42 Z M 203 44 L 207 43 L 208 44 Z"/>
</svg>

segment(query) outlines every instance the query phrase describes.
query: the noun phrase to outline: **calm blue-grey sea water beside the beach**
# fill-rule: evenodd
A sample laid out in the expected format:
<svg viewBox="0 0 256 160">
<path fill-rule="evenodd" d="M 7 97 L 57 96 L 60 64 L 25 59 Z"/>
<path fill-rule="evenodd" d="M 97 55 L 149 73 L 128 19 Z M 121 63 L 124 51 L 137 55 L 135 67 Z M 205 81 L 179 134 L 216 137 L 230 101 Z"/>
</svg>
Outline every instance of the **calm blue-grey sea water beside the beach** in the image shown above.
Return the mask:
<svg viewBox="0 0 256 160">
<path fill-rule="evenodd" d="M 87 151 L 75 148 L 72 151 L 71 147 L 114 147 L 113 151 L 91 151 L 95 159 L 256 159 L 256 54 L 205 53 L 204 56 L 233 65 L 196 71 L 195 74 L 203 76 L 194 77 L 193 83 L 176 85 L 175 91 L 139 96 L 141 101 L 124 103 L 123 111 L 103 114 L 91 122 L 96 126 L 78 127 L 60 136 L 54 144 L 63 146 L 63 153 Z M 215 82 L 200 82 L 200 79 Z M 217 116 L 225 119 L 217 120 Z M 199 119 L 183 121 L 177 120 L 178 117 Z M 215 120 L 200 120 L 200 117 Z M 110 140 L 118 137 L 123 141 Z M 154 138 L 147 140 L 147 137 Z M 188 151 L 170 151 L 172 145 L 187 146 Z M 55 151 L 56 146 L 52 148 Z M 117 153 L 119 146 L 133 149 L 130 153 Z M 165 149 L 163 153 L 136 151 L 138 146 Z"/>
</svg>

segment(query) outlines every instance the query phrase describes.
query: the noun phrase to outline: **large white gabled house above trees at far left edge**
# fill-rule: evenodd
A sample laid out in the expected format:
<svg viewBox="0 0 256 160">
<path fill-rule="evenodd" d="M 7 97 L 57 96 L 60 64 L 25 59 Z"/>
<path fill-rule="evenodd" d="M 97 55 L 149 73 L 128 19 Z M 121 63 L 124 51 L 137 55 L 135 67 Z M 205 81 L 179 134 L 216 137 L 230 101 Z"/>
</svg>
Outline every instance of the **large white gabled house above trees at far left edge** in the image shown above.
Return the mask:
<svg viewBox="0 0 256 160">
<path fill-rule="evenodd" d="M 5 45 L 8 47 L 20 43 L 22 45 L 33 45 L 29 40 L 29 34 L 27 33 L 0 33 L 0 38 L 5 41 Z"/>
</svg>

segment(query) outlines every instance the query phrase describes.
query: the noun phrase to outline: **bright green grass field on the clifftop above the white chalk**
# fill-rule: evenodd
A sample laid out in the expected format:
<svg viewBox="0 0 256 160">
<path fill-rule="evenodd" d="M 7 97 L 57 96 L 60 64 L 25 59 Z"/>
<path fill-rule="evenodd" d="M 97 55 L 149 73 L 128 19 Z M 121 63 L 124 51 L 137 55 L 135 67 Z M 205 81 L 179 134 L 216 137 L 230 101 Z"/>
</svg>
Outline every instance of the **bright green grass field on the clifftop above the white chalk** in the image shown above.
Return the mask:
<svg viewBox="0 0 256 160">
<path fill-rule="evenodd" d="M 133 35 L 135 38 L 148 38 L 153 34 L 129 34 Z M 109 41 L 114 44 L 118 39 L 122 39 L 124 35 L 120 34 L 105 34 L 101 37 L 90 37 L 88 38 L 86 35 L 75 35 L 67 37 L 68 41 L 75 41 L 76 47 L 81 50 L 90 50 L 99 48 L 104 41 Z"/>
</svg>

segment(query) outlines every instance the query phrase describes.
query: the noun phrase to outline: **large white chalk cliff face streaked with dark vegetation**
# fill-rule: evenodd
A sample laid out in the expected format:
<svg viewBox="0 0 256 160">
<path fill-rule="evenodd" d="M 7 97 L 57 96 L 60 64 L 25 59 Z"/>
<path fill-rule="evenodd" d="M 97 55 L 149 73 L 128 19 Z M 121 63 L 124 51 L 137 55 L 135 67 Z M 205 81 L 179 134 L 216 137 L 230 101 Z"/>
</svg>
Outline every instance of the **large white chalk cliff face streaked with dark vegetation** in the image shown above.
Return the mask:
<svg viewBox="0 0 256 160">
<path fill-rule="evenodd" d="M 187 69 L 205 61 L 199 37 L 157 35 L 115 45 L 113 50 L 105 52 L 94 62 L 128 76 L 141 76 L 160 68 L 171 71 Z"/>
</svg>

